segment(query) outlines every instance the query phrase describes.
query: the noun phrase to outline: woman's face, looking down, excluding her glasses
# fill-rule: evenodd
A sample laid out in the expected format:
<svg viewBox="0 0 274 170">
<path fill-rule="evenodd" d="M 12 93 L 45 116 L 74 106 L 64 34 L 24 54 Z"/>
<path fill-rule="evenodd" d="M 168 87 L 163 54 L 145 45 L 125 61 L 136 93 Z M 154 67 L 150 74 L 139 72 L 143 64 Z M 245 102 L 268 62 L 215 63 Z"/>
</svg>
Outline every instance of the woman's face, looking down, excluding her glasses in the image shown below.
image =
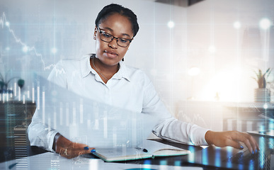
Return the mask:
<svg viewBox="0 0 274 170">
<path fill-rule="evenodd" d="M 129 19 L 118 13 L 114 13 L 105 18 L 99 24 L 99 28 L 101 31 L 109 33 L 115 38 L 126 38 L 129 40 L 133 38 L 132 25 Z M 118 64 L 118 62 L 120 62 L 120 60 L 125 56 L 125 53 L 130 46 L 120 47 L 115 38 L 113 38 L 111 42 L 102 41 L 98 28 L 94 30 L 94 38 L 96 39 L 96 57 L 98 57 L 103 64 L 108 66 Z"/>
</svg>

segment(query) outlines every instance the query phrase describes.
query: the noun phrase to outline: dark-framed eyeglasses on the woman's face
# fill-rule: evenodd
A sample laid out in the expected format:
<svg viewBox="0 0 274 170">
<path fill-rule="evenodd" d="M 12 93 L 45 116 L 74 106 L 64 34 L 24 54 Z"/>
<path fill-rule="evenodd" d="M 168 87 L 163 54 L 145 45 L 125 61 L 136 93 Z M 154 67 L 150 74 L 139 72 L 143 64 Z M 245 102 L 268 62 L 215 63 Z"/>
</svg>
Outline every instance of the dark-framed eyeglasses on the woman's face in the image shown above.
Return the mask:
<svg viewBox="0 0 274 170">
<path fill-rule="evenodd" d="M 104 42 L 111 42 L 115 37 L 109 33 L 105 33 L 105 31 L 101 30 L 98 26 L 97 26 L 99 33 L 100 33 L 100 38 L 102 41 Z M 132 42 L 132 39 L 127 39 L 127 38 L 115 38 L 117 45 L 119 45 L 120 47 L 127 47 L 128 45 L 130 45 L 130 42 Z"/>
</svg>

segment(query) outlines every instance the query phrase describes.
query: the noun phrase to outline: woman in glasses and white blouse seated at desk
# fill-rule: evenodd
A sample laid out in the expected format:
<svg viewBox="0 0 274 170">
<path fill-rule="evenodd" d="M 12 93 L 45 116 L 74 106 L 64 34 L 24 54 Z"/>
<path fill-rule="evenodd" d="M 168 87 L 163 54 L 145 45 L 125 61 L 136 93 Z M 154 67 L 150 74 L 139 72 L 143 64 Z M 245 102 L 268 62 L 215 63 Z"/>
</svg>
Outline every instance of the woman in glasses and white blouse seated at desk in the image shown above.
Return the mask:
<svg viewBox="0 0 274 170">
<path fill-rule="evenodd" d="M 137 16 L 130 9 L 118 4 L 105 6 L 96 18 L 93 35 L 96 54 L 81 60 L 60 61 L 48 79 L 102 103 L 138 113 L 156 113 L 161 123 L 153 132 L 166 140 L 237 149 L 242 149 L 239 142 L 244 142 L 251 153 L 256 152 L 258 144 L 251 135 L 236 131 L 213 132 L 171 116 L 144 72 L 122 62 L 138 30 Z M 45 147 L 63 157 L 72 158 L 94 151 L 92 146 L 69 141 L 56 130 L 48 130 L 36 113 L 28 132 L 31 145 Z"/>
</svg>

